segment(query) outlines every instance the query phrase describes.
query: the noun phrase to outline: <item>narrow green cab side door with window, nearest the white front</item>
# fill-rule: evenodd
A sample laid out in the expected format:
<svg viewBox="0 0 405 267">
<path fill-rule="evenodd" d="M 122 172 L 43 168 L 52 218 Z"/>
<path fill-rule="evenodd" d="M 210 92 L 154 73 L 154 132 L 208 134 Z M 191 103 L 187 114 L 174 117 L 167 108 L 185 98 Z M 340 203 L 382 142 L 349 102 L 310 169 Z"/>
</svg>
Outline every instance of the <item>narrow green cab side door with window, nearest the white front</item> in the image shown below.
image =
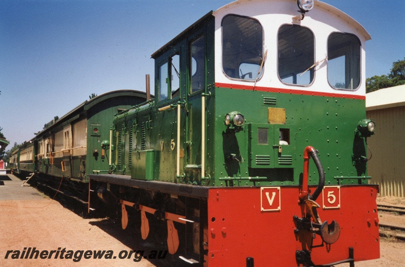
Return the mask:
<svg viewBox="0 0 405 267">
<path fill-rule="evenodd" d="M 205 176 L 205 127 L 201 127 L 201 124 L 205 124 L 205 103 L 203 104 L 206 91 L 205 50 L 203 34 L 195 36 L 189 43 L 187 165 L 185 171 L 186 177 L 190 177 L 190 182 L 197 183 L 201 176 Z"/>
</svg>

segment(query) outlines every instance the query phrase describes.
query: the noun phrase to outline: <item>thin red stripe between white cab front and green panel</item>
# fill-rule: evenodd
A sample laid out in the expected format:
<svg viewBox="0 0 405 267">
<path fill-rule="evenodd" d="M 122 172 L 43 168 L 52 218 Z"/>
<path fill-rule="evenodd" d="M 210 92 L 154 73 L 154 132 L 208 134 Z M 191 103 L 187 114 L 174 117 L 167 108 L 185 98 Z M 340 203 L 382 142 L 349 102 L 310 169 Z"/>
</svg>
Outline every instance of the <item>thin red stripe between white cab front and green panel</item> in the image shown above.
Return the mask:
<svg viewBox="0 0 405 267">
<path fill-rule="evenodd" d="M 260 87 L 260 86 L 255 86 L 254 87 L 254 86 L 249 86 L 249 85 L 225 84 L 225 83 L 215 83 L 215 86 L 216 87 L 229 88 L 229 89 L 272 92 L 272 93 L 284 93 L 284 94 L 294 94 L 294 95 L 340 97 L 340 98 L 360 99 L 360 100 L 365 100 L 366 99 L 366 96 L 363 96 L 363 95 L 335 94 L 335 93 L 324 93 L 324 92 L 314 92 L 314 91 L 306 91 L 306 90 L 282 89 L 282 88 L 273 88 L 273 87 Z"/>
</svg>

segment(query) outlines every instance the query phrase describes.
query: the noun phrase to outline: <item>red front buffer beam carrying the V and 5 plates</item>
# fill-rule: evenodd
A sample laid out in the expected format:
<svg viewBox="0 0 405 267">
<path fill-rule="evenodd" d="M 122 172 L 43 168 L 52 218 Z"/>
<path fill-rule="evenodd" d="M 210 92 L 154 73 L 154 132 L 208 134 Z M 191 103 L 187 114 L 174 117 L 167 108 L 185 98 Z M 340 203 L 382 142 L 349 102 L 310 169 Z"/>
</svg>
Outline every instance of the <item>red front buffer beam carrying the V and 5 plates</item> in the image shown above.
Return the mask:
<svg viewBox="0 0 405 267">
<path fill-rule="evenodd" d="M 293 216 L 302 216 L 300 188 L 280 187 L 281 209 L 274 211 L 261 211 L 262 192 L 260 187 L 209 190 L 208 266 L 246 266 L 247 257 L 254 258 L 255 266 L 297 266 L 296 251 L 309 249 L 312 240 L 309 232 L 294 233 Z M 377 185 L 343 185 L 340 208 L 318 209 L 322 221 L 340 224 L 341 235 L 329 253 L 325 246 L 312 249 L 314 264 L 347 259 L 349 247 L 354 248 L 355 261 L 379 257 L 377 192 Z M 316 236 L 313 245 L 321 243 Z"/>
</svg>

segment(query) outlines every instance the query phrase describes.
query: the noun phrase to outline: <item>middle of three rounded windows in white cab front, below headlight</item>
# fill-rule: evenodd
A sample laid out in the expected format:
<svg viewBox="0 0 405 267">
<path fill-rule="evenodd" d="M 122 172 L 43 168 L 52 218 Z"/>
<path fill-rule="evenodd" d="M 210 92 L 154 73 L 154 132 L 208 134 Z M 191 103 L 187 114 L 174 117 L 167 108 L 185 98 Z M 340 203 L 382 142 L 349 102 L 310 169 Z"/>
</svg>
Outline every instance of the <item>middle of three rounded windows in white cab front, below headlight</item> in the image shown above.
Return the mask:
<svg viewBox="0 0 405 267">
<path fill-rule="evenodd" d="M 278 77 L 283 83 L 309 85 L 314 78 L 314 36 L 298 25 L 282 25 L 278 30 Z M 305 71 L 307 70 L 307 71 Z"/>
</svg>

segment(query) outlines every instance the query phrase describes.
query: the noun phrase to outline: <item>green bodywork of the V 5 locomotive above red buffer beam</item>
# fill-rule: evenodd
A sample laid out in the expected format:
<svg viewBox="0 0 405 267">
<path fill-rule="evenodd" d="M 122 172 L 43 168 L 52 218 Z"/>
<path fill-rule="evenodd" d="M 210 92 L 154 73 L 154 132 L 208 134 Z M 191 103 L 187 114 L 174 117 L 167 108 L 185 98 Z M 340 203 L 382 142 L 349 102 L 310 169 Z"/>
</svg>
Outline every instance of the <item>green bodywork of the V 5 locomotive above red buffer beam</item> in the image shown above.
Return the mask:
<svg viewBox="0 0 405 267">
<path fill-rule="evenodd" d="M 208 14 L 152 55 L 156 98 L 116 116 L 113 172 L 208 186 L 299 185 L 303 150 L 312 145 L 320 151 L 328 184 L 367 184 L 361 160 L 367 158 L 365 138 L 357 130 L 366 116 L 363 85 L 339 90 L 323 84 L 328 88 L 319 90 L 314 78 L 305 86 L 285 83 L 286 88 L 229 77 L 228 83 L 218 83 L 214 21 Z M 360 46 L 350 46 L 356 45 L 358 51 L 348 48 L 345 53 L 359 56 Z M 198 55 L 197 49 L 204 52 Z M 268 64 L 272 62 L 266 68 L 273 67 Z M 359 62 L 357 66 L 360 71 Z M 282 82 L 278 75 L 275 86 Z M 344 79 L 353 79 L 346 75 Z M 193 82 L 200 77 L 203 86 Z M 241 126 L 225 125 L 232 112 L 244 117 Z M 317 184 L 317 176 L 310 182 Z"/>
</svg>

